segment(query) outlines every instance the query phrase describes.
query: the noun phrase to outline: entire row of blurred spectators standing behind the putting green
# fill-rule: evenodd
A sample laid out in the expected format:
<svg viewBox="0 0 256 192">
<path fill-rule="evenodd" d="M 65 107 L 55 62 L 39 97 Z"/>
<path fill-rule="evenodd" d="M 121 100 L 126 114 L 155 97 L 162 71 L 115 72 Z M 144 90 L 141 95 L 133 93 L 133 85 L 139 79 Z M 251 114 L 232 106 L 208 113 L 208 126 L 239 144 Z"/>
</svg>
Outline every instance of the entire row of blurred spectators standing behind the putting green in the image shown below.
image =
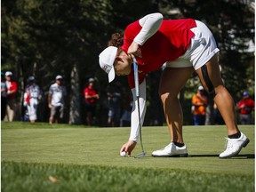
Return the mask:
<svg viewBox="0 0 256 192">
<path fill-rule="evenodd" d="M 132 93 L 122 92 L 120 87 L 115 85 L 106 88 L 106 92 L 99 92 L 96 87 L 95 80 L 91 77 L 81 92 L 83 95 L 81 123 L 88 126 L 100 124 L 108 127 L 130 126 Z M 36 84 L 36 78 L 28 76 L 23 93 L 21 118 L 17 115 L 19 114 L 17 93 L 18 85 L 12 78 L 12 72 L 1 72 L 1 120 L 12 122 L 22 119 L 34 124 L 36 121 L 45 121 L 42 117 L 42 111 L 44 111 L 44 115 L 48 116 L 49 124 L 67 123 L 64 118 L 68 104 L 68 92 L 63 76 L 56 76 L 55 83 L 49 85 L 49 90 L 45 94 Z M 191 113 L 195 125 L 207 124 L 205 118 L 209 114 L 207 112 L 209 105 L 204 93 L 203 86 L 199 86 L 191 100 Z M 250 99 L 249 92 L 244 92 L 242 100 L 236 104 L 240 124 L 252 124 L 254 106 L 254 100 Z M 224 124 L 216 106 L 214 106 L 213 116 L 213 124 Z"/>
</svg>

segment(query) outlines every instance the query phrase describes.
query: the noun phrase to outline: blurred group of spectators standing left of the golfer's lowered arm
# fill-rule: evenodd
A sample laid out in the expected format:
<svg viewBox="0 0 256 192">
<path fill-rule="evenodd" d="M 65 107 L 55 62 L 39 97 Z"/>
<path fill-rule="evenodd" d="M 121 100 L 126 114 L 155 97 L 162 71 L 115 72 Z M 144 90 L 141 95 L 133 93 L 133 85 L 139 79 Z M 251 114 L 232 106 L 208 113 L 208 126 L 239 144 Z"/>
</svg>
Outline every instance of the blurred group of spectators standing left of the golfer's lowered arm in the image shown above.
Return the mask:
<svg viewBox="0 0 256 192">
<path fill-rule="evenodd" d="M 89 78 L 82 92 L 81 105 L 84 113 L 81 114 L 84 116 L 81 116 L 81 123 L 97 126 L 102 121 L 99 120 L 99 115 L 105 112 L 106 115 L 101 116 L 101 118 L 106 118 L 105 123 L 101 124 L 109 127 L 129 126 L 132 96 L 129 96 L 128 99 L 125 95 L 123 100 L 122 93 L 116 88 L 110 87 L 106 90 L 106 95 L 102 96 L 102 100 L 105 101 L 100 102 L 100 93 L 94 83 L 94 79 Z M 22 89 L 20 90 L 22 91 Z M 49 85 L 47 92 L 43 92 L 36 84 L 35 76 L 28 76 L 22 92 L 21 110 L 18 105 L 17 93 L 18 84 L 13 80 L 12 72 L 1 72 L 1 120 L 10 122 L 22 120 L 34 124 L 36 121 L 45 121 L 44 116 L 46 115 L 49 124 L 67 123 L 65 122 L 65 110 L 68 106 L 68 92 L 63 76 L 57 75 L 55 82 Z M 127 100 L 128 105 L 126 104 Z M 97 113 L 96 110 L 102 103 L 101 111 Z"/>
</svg>

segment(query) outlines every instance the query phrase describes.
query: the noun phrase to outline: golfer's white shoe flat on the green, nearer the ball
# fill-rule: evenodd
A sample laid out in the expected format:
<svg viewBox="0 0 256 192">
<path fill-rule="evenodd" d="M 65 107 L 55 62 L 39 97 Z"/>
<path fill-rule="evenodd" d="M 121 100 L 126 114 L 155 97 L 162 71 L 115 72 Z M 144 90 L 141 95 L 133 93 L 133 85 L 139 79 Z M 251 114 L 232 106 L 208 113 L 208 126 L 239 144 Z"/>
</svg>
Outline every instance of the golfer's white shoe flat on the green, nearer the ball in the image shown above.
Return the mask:
<svg viewBox="0 0 256 192">
<path fill-rule="evenodd" d="M 179 148 L 173 142 L 171 142 L 165 148 L 162 148 L 160 150 L 156 150 L 156 151 L 152 152 L 152 156 L 155 156 L 155 157 L 168 157 L 168 156 L 187 157 L 188 156 L 188 150 L 187 150 L 186 145 Z"/>
</svg>

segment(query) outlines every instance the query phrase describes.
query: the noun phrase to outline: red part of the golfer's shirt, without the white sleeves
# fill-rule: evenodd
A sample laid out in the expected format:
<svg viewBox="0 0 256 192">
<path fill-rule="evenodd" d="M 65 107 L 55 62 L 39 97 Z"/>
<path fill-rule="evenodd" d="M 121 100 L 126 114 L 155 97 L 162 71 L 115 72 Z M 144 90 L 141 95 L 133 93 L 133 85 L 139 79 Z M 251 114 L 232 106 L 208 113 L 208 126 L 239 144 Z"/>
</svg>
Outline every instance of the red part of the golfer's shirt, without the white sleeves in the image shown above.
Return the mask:
<svg viewBox="0 0 256 192">
<path fill-rule="evenodd" d="M 183 55 L 190 44 L 194 33 L 190 28 L 196 27 L 196 21 L 192 19 L 163 20 L 160 28 L 153 36 L 140 46 L 141 57 L 137 57 L 140 84 L 145 76 L 161 68 L 165 62 L 178 59 Z M 130 24 L 124 30 L 124 44 L 121 47 L 128 52 L 133 39 L 141 30 L 139 20 Z M 134 87 L 133 69 L 128 76 L 130 87 Z"/>
</svg>

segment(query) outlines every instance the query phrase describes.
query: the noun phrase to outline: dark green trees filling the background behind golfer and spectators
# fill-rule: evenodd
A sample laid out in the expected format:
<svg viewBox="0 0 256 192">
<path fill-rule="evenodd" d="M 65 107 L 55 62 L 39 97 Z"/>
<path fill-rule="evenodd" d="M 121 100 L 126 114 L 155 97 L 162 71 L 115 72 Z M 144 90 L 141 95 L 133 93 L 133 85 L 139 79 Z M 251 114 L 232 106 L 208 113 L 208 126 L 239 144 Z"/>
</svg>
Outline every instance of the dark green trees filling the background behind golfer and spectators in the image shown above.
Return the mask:
<svg viewBox="0 0 256 192">
<path fill-rule="evenodd" d="M 171 14 L 173 9 L 179 13 Z M 60 74 L 70 92 L 73 78 L 70 73 L 76 66 L 81 85 L 77 92 L 82 95 L 87 79 L 95 77 L 104 98 L 108 77 L 99 68 L 98 55 L 111 34 L 123 32 L 130 22 L 150 12 L 162 12 L 165 19 L 191 17 L 203 20 L 212 29 L 220 47 L 222 76 L 238 100 L 241 91 L 254 94 L 254 55 L 246 51 L 247 43 L 254 42 L 251 9 L 250 4 L 238 0 L 5 0 L 1 4 L 1 70 L 12 70 L 22 98 L 24 84 L 31 75 L 46 94 L 54 77 Z M 156 76 L 159 78 L 160 71 L 149 79 Z M 116 78 L 114 84 L 119 82 L 124 84 L 124 92 L 128 92 L 126 78 Z M 186 97 L 196 92 L 197 84 L 197 79 L 189 80 Z M 161 108 L 154 92 L 157 86 L 155 80 L 148 84 L 147 124 L 153 124 L 154 110 Z"/>
</svg>

